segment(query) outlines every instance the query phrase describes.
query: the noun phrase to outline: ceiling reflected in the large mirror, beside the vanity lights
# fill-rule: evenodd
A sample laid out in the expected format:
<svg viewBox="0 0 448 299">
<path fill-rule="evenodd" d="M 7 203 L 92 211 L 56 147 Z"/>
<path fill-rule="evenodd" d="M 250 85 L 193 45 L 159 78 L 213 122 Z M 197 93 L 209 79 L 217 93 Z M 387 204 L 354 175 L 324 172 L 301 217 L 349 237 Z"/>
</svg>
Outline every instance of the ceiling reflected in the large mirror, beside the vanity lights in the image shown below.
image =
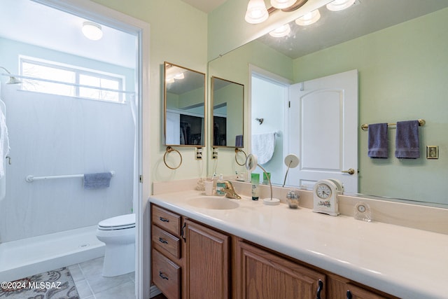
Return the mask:
<svg viewBox="0 0 448 299">
<path fill-rule="evenodd" d="M 321 19 L 312 25 L 290 22 L 287 37 L 266 34 L 259 41 L 295 59 L 446 7 L 448 0 L 356 0 L 344 11 L 319 8 Z"/>
</svg>

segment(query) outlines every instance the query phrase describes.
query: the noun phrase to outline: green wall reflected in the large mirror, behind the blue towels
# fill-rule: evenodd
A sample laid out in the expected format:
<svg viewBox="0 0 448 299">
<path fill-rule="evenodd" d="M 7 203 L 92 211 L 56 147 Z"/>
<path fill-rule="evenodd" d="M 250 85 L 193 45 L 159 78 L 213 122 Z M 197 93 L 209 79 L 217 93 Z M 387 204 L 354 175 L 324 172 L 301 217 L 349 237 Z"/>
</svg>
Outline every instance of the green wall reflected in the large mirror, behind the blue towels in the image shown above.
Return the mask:
<svg viewBox="0 0 448 299">
<path fill-rule="evenodd" d="M 295 82 L 358 69 L 360 124 L 426 120 L 416 160 L 395 158 L 393 127 L 389 158 L 368 158 L 367 131 L 359 129 L 360 193 L 448 204 L 440 196 L 448 193 L 447 28 L 445 8 L 294 61 Z M 428 145 L 439 146 L 438 160 L 426 160 Z"/>
</svg>

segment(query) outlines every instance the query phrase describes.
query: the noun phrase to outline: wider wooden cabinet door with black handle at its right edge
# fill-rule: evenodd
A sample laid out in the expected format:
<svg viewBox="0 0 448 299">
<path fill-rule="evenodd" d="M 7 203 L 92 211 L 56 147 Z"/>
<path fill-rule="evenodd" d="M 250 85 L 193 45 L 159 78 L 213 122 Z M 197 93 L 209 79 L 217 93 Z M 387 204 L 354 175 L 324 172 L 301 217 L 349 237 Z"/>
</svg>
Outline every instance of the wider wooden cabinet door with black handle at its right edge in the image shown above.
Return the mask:
<svg viewBox="0 0 448 299">
<path fill-rule="evenodd" d="M 286 260 L 258 247 L 238 242 L 241 259 L 241 297 L 246 299 L 315 299 L 325 274 Z M 325 298 L 322 291 L 320 298 Z"/>
</svg>

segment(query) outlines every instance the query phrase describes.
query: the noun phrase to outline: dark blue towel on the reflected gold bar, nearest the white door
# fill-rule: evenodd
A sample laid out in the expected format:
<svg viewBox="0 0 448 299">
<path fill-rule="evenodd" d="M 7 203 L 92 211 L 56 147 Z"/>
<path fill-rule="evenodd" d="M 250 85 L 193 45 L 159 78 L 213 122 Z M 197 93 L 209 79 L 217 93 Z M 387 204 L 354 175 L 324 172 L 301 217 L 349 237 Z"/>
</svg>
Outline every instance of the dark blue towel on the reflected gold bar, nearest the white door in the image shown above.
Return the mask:
<svg viewBox="0 0 448 299">
<path fill-rule="evenodd" d="M 370 158 L 388 158 L 387 123 L 374 123 L 369 125 L 368 133 L 367 155 Z"/>
</svg>

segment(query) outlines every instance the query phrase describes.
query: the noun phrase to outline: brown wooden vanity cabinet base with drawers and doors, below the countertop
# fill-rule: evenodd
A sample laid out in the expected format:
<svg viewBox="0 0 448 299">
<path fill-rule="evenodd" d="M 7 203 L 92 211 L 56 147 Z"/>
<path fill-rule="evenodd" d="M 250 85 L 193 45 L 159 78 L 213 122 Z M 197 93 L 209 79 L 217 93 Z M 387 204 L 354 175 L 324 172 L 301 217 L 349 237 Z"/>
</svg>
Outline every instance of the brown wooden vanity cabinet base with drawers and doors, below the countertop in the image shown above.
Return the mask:
<svg viewBox="0 0 448 299">
<path fill-rule="evenodd" d="M 151 217 L 151 273 L 168 299 L 398 299 L 154 204 Z"/>
</svg>

